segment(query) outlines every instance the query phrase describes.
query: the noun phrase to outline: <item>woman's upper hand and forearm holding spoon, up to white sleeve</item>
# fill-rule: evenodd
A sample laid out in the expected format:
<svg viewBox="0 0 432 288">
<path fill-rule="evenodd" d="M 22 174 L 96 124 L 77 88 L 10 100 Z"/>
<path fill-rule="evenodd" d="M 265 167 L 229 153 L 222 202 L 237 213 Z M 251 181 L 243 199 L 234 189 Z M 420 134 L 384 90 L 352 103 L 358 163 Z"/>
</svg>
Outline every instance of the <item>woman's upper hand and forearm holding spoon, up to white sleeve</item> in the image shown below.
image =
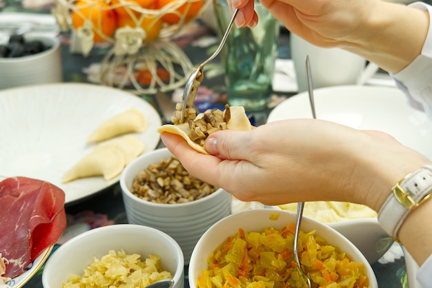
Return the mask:
<svg viewBox="0 0 432 288">
<path fill-rule="evenodd" d="M 230 0 L 239 27 L 256 25 L 254 0 Z M 405 68 L 421 51 L 429 13 L 380 0 L 259 0 L 285 27 L 314 45 L 342 48 L 387 72 Z M 403 45 L 409 43 L 409 45 Z"/>
</svg>

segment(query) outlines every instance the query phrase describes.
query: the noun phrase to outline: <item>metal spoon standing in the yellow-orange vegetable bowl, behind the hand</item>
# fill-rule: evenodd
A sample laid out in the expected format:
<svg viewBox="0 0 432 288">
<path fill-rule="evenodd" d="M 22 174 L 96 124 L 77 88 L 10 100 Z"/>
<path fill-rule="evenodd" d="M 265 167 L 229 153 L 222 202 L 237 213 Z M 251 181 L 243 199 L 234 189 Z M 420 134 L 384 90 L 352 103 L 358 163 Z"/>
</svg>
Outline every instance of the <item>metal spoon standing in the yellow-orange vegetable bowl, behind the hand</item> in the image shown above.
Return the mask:
<svg viewBox="0 0 432 288">
<path fill-rule="evenodd" d="M 313 85 L 312 85 L 312 73 L 311 73 L 311 62 L 309 61 L 309 56 L 306 55 L 306 83 L 308 87 L 308 94 L 309 94 L 309 103 L 311 103 L 311 110 L 312 110 L 312 116 L 313 119 L 317 119 L 317 115 L 315 114 L 315 101 L 313 100 Z M 303 217 L 303 208 L 304 208 L 304 202 L 299 202 L 297 204 L 297 218 L 295 219 L 295 234 L 294 234 L 294 259 L 297 263 L 297 270 L 300 272 L 301 276 L 303 276 L 304 281 L 308 285 L 308 288 L 311 288 L 311 279 L 308 278 L 306 274 L 304 274 L 304 271 L 302 270 L 302 267 L 300 266 L 300 260 L 299 260 L 299 254 L 297 252 L 297 245 L 299 240 L 299 234 L 300 234 L 300 226 L 302 225 L 302 217 Z"/>
</svg>

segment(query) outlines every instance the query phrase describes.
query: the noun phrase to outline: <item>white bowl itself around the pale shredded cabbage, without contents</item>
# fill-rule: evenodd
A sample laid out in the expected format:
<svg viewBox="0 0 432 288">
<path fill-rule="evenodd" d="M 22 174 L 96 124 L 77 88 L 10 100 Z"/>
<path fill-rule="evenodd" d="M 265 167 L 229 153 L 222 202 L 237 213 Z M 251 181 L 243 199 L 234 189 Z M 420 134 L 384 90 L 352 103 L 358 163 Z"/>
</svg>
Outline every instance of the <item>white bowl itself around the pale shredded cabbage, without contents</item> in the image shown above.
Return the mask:
<svg viewBox="0 0 432 288">
<path fill-rule="evenodd" d="M 184 287 L 184 258 L 179 245 L 167 234 L 142 225 L 119 224 L 92 229 L 68 240 L 57 249 L 43 269 L 44 288 L 59 288 L 70 274 L 82 275 L 84 268 L 108 251 L 124 249 L 139 254 L 144 261 L 150 254 L 161 258 L 162 268 L 173 275 L 174 288 Z"/>
</svg>

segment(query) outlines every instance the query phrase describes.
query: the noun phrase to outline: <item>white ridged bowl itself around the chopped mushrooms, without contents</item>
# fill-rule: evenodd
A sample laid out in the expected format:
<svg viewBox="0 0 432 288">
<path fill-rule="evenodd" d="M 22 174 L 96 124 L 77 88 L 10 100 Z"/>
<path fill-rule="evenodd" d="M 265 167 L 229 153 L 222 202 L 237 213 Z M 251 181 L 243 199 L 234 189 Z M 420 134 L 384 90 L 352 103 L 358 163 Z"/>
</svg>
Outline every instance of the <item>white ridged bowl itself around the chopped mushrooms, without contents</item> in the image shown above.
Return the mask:
<svg viewBox="0 0 432 288">
<path fill-rule="evenodd" d="M 130 192 L 133 180 L 150 164 L 173 156 L 167 148 L 145 153 L 127 165 L 120 176 L 120 186 L 128 222 L 159 229 L 179 243 L 187 264 L 195 244 L 218 220 L 231 214 L 232 196 L 217 189 L 209 196 L 189 203 L 159 204 L 143 200 Z"/>
</svg>

